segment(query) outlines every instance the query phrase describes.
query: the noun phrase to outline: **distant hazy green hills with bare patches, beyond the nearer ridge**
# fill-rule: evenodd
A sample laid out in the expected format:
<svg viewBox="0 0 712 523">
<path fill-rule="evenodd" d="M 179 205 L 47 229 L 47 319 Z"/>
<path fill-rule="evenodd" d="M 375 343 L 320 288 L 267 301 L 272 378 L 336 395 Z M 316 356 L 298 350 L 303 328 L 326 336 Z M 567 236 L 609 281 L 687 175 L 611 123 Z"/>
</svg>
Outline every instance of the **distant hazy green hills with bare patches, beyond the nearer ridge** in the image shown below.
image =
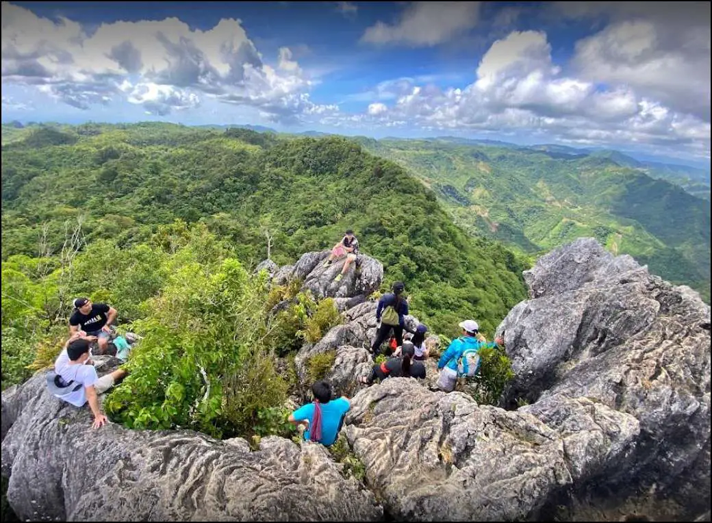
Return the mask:
<svg viewBox="0 0 712 523">
<path fill-rule="evenodd" d="M 534 255 L 595 236 L 710 297 L 710 205 L 601 155 L 360 139 L 431 187 L 457 223 Z"/>
</svg>

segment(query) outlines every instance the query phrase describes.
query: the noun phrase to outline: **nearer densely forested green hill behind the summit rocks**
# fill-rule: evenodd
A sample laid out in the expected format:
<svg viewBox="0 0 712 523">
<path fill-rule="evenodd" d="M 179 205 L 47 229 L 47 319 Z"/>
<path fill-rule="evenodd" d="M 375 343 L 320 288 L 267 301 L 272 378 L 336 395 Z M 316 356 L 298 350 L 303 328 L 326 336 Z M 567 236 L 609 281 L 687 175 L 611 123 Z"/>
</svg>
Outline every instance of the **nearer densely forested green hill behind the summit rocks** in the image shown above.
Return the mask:
<svg viewBox="0 0 712 523">
<path fill-rule="evenodd" d="M 468 236 L 419 181 L 346 139 L 158 123 L 15 134 L 2 152 L 3 260 L 36 256 L 43 226 L 58 252 L 63 224 L 79 216 L 88 245 L 122 249 L 159 224 L 203 222 L 248 266 L 266 258 L 265 228 L 277 263 L 353 228 L 384 263 L 384 286 L 404 280 L 412 310 L 436 331 L 473 317 L 491 334 L 525 297 L 525 267 L 511 252 Z"/>
</svg>

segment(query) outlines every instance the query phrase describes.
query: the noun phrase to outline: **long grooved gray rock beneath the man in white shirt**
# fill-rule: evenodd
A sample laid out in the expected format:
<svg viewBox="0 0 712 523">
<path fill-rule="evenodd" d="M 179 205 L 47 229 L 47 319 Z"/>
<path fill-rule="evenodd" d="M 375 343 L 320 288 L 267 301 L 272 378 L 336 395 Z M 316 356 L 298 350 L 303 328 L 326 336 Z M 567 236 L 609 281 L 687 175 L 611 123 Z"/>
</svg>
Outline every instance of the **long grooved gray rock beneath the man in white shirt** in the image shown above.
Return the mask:
<svg viewBox="0 0 712 523">
<path fill-rule="evenodd" d="M 2 394 L 8 500 L 32 521 L 374 521 L 382 507 L 321 445 L 190 430 L 93 430 L 43 373 Z M 6 416 L 8 419 L 6 419 Z"/>
</svg>

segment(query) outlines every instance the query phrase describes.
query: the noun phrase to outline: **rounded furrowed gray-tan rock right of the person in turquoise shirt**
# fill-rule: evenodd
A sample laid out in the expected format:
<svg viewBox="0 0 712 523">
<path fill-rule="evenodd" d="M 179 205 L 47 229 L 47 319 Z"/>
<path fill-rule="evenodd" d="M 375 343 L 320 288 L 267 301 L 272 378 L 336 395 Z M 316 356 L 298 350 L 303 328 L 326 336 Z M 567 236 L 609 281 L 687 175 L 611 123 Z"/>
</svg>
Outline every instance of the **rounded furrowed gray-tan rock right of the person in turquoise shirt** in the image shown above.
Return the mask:
<svg viewBox="0 0 712 523">
<path fill-rule="evenodd" d="M 559 434 L 535 416 L 414 379 L 357 393 L 344 432 L 395 519 L 512 521 L 572 481 Z"/>
</svg>

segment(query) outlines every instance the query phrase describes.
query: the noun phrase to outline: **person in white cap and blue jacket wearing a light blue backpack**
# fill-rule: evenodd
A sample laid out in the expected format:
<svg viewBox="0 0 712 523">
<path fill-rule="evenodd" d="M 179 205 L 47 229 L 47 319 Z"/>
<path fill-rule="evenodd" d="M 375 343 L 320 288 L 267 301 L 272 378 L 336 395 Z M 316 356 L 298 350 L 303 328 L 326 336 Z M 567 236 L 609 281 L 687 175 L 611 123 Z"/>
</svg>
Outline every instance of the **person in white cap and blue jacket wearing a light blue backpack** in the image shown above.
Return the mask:
<svg viewBox="0 0 712 523">
<path fill-rule="evenodd" d="M 480 365 L 478 354 L 480 349 L 503 344 L 501 338 L 495 339 L 493 343 L 481 341 L 483 338 L 479 334 L 479 326 L 472 319 L 460 322 L 459 327 L 461 327 L 463 335 L 452 341 L 438 361 L 440 376 L 437 385 L 446 392 L 455 390 L 457 379 L 460 376 L 471 377 L 477 373 Z"/>
</svg>

